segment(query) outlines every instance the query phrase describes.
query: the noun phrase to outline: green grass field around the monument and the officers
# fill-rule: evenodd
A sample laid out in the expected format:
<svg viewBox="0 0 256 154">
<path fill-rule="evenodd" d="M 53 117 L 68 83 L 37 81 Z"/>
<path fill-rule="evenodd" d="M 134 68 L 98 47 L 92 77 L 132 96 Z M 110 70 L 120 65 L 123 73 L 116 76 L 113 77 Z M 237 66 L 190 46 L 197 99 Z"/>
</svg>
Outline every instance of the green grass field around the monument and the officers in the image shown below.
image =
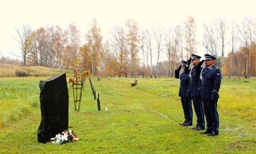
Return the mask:
<svg viewBox="0 0 256 154">
<path fill-rule="evenodd" d="M 174 78 L 92 77 L 102 111 L 86 80 L 80 111 L 69 88 L 69 126 L 79 141 L 38 143 L 39 87 L 47 77 L 0 77 L 0 153 L 255 153 L 256 78 L 223 79 L 219 135 L 180 126 L 183 111 Z M 104 111 L 108 106 L 108 111 Z"/>
</svg>

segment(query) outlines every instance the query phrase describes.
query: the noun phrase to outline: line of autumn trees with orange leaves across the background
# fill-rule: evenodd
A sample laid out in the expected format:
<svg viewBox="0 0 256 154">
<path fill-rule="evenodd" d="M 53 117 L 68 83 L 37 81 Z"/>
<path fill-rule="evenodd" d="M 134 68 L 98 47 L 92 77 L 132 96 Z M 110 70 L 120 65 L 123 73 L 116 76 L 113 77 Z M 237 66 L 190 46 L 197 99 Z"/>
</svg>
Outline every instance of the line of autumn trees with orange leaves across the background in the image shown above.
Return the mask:
<svg viewBox="0 0 256 154">
<path fill-rule="evenodd" d="M 256 76 L 255 30 L 256 22 L 249 18 L 232 26 L 220 19 L 204 25 L 205 54 L 218 57 L 217 66 L 226 76 Z M 84 36 L 74 24 L 65 30 L 60 26 L 32 30 L 24 25 L 15 31 L 24 66 L 81 69 L 112 77 L 173 77 L 179 62 L 196 54 L 199 44 L 195 20 L 190 16 L 169 29 L 143 29 L 135 20 L 127 20 L 124 26 L 113 27 L 104 39 L 96 20 L 91 20 Z M 75 61 L 79 61 L 76 66 Z"/>
</svg>

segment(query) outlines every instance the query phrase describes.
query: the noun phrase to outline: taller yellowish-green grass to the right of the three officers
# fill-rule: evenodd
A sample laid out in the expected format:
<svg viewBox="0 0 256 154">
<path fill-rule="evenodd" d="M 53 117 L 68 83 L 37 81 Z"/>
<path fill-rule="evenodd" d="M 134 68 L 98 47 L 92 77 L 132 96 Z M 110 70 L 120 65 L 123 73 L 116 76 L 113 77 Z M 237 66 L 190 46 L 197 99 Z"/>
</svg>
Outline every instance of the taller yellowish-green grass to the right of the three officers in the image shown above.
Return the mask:
<svg viewBox="0 0 256 154">
<path fill-rule="evenodd" d="M 234 117 L 256 122 L 255 78 L 224 80 L 220 89 L 223 112 Z"/>
</svg>

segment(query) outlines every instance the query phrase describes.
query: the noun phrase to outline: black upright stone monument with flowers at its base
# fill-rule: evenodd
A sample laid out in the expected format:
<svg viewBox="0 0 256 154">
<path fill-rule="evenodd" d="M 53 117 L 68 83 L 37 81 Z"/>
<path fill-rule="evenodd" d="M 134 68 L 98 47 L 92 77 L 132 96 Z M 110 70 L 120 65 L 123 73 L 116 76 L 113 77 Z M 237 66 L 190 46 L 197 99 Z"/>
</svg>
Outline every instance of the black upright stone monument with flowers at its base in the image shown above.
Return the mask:
<svg viewBox="0 0 256 154">
<path fill-rule="evenodd" d="M 68 90 L 66 74 L 40 81 L 41 123 L 38 142 L 46 143 L 68 128 Z"/>
</svg>

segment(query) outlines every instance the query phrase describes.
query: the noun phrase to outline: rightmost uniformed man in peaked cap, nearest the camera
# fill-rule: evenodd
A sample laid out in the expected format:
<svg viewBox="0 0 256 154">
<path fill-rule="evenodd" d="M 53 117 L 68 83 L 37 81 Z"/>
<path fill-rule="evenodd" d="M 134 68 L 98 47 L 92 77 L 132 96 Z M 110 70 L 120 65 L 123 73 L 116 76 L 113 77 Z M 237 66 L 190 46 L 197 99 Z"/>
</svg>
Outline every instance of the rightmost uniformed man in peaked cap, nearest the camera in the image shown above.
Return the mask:
<svg viewBox="0 0 256 154">
<path fill-rule="evenodd" d="M 219 69 L 214 66 L 215 57 L 205 54 L 206 66 L 201 71 L 201 99 L 207 118 L 207 130 L 201 134 L 208 136 L 218 135 L 218 90 L 220 88 L 222 75 Z"/>
</svg>

